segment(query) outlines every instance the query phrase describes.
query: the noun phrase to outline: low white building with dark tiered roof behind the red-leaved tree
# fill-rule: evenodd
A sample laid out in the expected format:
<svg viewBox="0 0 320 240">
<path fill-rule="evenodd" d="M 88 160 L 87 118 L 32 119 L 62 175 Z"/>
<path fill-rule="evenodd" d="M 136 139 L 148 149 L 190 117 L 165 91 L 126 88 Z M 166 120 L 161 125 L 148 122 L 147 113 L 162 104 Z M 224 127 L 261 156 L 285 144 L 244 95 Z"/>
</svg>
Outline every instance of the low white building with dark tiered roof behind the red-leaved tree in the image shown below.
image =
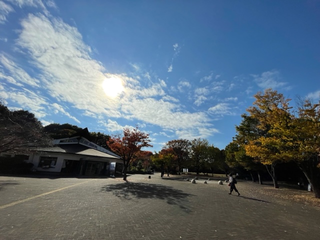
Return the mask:
<svg viewBox="0 0 320 240">
<path fill-rule="evenodd" d="M 87 128 L 33 152 L 26 161 L 33 163 L 33 171 L 46 173 L 112 175 L 115 164 L 123 164 L 120 156 L 91 142 Z"/>
</svg>

